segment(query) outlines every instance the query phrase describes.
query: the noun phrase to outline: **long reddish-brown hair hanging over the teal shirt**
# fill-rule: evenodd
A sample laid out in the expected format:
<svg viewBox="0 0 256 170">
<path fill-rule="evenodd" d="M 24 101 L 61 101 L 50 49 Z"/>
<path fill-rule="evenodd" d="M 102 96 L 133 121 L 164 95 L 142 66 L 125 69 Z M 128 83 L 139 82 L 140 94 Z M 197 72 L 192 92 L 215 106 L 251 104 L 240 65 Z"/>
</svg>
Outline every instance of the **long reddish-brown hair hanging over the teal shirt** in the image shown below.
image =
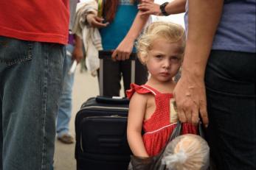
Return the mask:
<svg viewBox="0 0 256 170">
<path fill-rule="evenodd" d="M 130 0 L 131 4 L 134 4 L 136 0 Z M 104 4 L 104 18 L 106 21 L 113 21 L 117 13 L 117 6 L 120 0 L 105 0 Z"/>
</svg>

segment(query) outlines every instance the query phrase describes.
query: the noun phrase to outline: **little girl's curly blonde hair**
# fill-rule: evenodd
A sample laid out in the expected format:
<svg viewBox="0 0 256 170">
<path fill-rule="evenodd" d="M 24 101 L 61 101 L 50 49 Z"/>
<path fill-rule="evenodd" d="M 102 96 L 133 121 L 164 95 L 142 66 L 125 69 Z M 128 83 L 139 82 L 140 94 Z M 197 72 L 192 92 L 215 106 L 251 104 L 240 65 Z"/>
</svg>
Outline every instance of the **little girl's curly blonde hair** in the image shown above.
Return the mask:
<svg viewBox="0 0 256 170">
<path fill-rule="evenodd" d="M 181 41 L 181 54 L 184 54 L 185 48 L 185 31 L 179 24 L 165 21 L 156 21 L 150 24 L 145 32 L 136 42 L 137 55 L 142 64 L 148 60 L 148 52 L 153 46 L 153 42 L 159 38 L 167 40 L 168 43 L 177 43 Z"/>
</svg>

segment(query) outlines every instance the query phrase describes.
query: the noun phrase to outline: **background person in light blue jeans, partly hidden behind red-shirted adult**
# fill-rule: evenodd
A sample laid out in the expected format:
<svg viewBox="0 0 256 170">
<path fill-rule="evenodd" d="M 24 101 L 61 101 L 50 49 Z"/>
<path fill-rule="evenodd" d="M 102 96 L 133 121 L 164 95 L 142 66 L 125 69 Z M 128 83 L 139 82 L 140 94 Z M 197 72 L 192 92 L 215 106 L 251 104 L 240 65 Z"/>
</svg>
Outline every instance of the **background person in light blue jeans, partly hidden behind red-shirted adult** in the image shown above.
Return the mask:
<svg viewBox="0 0 256 170">
<path fill-rule="evenodd" d="M 83 43 L 80 37 L 71 33 L 75 20 L 77 0 L 69 0 L 69 43 L 66 45 L 66 57 L 63 63 L 63 90 L 60 96 L 57 117 L 57 138 L 63 144 L 73 144 L 74 138 L 69 132 L 69 121 L 72 114 L 72 88 L 74 84 L 75 70 L 71 70 L 72 64 L 80 63 L 83 58 Z"/>
</svg>

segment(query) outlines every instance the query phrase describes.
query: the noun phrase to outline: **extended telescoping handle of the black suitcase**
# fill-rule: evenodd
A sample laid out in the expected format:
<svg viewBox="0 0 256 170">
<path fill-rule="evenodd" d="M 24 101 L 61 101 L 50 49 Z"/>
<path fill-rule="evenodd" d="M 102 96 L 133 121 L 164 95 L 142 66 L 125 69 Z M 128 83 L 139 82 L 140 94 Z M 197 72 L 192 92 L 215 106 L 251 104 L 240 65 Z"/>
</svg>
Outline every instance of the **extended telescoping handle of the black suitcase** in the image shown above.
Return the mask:
<svg viewBox="0 0 256 170">
<path fill-rule="evenodd" d="M 113 51 L 99 51 L 99 58 L 100 58 L 100 96 L 103 96 L 103 60 L 105 58 L 111 57 Z M 136 53 L 131 53 L 130 58 L 131 60 L 131 83 L 135 82 L 135 59 Z"/>
</svg>

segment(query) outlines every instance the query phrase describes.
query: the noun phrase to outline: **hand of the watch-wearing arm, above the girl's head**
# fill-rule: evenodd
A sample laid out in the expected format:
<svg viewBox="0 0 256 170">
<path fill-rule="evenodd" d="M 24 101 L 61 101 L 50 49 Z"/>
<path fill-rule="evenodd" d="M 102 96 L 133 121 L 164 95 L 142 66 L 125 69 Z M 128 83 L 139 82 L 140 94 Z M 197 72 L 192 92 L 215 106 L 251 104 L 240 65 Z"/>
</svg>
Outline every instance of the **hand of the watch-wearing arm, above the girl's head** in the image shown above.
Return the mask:
<svg viewBox="0 0 256 170">
<path fill-rule="evenodd" d="M 142 3 L 138 4 L 138 10 L 141 11 L 140 15 L 162 15 L 160 5 L 150 0 L 142 0 Z"/>
</svg>

